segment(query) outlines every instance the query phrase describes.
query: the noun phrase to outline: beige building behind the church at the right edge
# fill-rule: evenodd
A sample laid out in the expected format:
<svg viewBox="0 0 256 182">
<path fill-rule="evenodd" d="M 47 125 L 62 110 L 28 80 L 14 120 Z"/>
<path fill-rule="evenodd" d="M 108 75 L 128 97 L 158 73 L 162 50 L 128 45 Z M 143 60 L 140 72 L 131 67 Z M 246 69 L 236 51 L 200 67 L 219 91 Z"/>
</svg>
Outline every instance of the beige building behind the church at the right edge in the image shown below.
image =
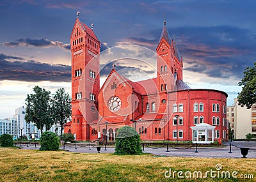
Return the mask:
<svg viewBox="0 0 256 182">
<path fill-rule="evenodd" d="M 227 107 L 227 120 L 234 133 L 234 139 L 245 139 L 248 133 L 256 137 L 256 104 L 246 109 L 238 105 L 236 98 L 234 105 Z"/>
</svg>

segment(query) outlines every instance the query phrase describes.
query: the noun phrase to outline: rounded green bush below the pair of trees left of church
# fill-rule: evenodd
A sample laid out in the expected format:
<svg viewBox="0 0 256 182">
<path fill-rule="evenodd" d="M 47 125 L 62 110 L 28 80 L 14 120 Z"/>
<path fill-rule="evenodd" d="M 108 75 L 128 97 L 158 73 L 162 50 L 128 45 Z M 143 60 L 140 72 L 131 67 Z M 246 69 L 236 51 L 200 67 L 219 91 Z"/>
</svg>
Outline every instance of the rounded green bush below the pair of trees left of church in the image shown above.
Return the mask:
<svg viewBox="0 0 256 182">
<path fill-rule="evenodd" d="M 44 132 L 40 138 L 41 151 L 58 151 L 60 149 L 59 139 L 52 132 Z"/>
</svg>

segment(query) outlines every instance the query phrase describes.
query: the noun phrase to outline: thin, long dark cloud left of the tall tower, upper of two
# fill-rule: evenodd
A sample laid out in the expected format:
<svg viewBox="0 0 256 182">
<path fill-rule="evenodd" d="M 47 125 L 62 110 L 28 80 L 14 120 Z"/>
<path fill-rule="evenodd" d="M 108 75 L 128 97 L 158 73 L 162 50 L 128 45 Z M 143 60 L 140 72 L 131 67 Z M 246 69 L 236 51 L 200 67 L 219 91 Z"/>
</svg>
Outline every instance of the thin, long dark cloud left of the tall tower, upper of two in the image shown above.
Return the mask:
<svg viewBox="0 0 256 182">
<path fill-rule="evenodd" d="M 63 50 L 70 50 L 70 44 L 58 42 L 58 41 L 50 41 L 46 38 L 41 39 L 31 39 L 31 38 L 20 38 L 16 42 L 4 42 L 3 45 L 8 47 L 15 47 L 15 46 L 34 46 L 34 47 L 59 47 Z"/>
</svg>

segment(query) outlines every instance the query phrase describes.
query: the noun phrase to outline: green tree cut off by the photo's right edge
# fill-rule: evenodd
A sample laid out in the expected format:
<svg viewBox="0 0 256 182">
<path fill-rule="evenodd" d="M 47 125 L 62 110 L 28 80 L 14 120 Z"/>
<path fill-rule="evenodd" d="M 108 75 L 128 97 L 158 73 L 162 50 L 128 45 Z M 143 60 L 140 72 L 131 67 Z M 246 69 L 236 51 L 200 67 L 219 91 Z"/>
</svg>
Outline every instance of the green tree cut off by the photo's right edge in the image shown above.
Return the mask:
<svg viewBox="0 0 256 182">
<path fill-rule="evenodd" d="M 242 86 L 242 91 L 238 93 L 237 97 L 238 103 L 241 107 L 245 105 L 247 109 L 256 103 L 256 62 L 253 64 L 254 66 L 245 68 L 244 77 L 238 83 L 239 86 Z"/>
</svg>

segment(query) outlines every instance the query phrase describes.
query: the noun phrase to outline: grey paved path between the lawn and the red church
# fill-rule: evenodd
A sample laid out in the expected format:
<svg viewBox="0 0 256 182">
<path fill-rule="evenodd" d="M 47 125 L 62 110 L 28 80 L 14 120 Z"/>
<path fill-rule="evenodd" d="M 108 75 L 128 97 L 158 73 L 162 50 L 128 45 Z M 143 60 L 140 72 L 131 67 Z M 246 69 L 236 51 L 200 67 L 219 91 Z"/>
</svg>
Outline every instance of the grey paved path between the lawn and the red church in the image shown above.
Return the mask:
<svg viewBox="0 0 256 182">
<path fill-rule="evenodd" d="M 143 151 L 144 153 L 151 153 L 156 156 L 180 156 L 180 157 L 204 157 L 204 158 L 241 158 L 241 151 L 239 148 L 249 148 L 249 152 L 247 158 L 256 158 L 256 142 L 231 142 L 232 145 L 232 153 L 229 152 L 229 143 L 225 142 L 225 147 L 198 147 L 198 153 L 195 153 L 195 147 L 184 149 L 184 148 L 172 148 L 169 146 L 168 151 L 166 152 L 167 148 L 164 146 L 163 148 L 148 148 L 145 146 Z M 237 148 L 237 147 L 239 148 Z M 30 145 L 23 145 L 22 149 L 39 149 L 40 146 Z M 79 146 L 77 144 L 77 148 L 75 145 L 73 146 L 60 146 L 60 149 L 64 149 L 66 151 L 75 152 L 75 153 L 97 153 L 97 149 L 95 147 L 89 148 L 89 146 Z M 100 153 L 114 153 L 114 147 L 107 147 L 106 150 L 104 146 L 100 149 Z"/>
</svg>

